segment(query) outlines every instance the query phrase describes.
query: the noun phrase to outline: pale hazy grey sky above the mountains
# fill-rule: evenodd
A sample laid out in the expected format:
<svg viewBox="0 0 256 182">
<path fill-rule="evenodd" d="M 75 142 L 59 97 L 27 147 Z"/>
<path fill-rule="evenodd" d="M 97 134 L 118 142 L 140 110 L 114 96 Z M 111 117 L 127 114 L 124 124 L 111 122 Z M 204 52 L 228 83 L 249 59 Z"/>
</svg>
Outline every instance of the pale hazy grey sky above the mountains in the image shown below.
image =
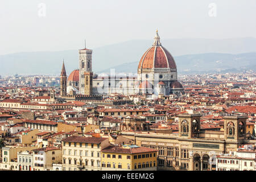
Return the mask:
<svg viewBox="0 0 256 182">
<path fill-rule="evenodd" d="M 150 40 L 156 29 L 161 39 L 256 37 L 255 10 L 255 0 L 1 0 L 0 55 Z"/>
</svg>

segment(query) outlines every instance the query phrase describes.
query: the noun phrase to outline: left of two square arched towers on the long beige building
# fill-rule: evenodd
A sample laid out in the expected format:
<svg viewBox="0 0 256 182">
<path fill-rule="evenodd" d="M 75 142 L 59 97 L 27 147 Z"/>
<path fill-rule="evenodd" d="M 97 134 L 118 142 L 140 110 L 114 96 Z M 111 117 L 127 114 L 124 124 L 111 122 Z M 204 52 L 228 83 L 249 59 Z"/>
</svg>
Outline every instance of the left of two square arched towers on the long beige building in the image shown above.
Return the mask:
<svg viewBox="0 0 256 182">
<path fill-rule="evenodd" d="M 179 137 L 197 137 L 200 132 L 201 114 L 179 114 Z"/>
</svg>

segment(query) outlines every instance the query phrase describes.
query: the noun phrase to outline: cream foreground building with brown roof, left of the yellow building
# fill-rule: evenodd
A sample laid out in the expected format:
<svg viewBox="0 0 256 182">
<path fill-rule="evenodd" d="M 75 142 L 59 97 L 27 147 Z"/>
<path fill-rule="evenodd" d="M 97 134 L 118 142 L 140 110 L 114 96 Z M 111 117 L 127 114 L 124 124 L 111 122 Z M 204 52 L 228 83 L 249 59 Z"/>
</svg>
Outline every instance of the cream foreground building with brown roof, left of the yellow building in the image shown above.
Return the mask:
<svg viewBox="0 0 256 182">
<path fill-rule="evenodd" d="M 72 136 L 63 139 L 63 171 L 100 171 L 101 150 L 108 146 L 108 138 Z"/>
</svg>

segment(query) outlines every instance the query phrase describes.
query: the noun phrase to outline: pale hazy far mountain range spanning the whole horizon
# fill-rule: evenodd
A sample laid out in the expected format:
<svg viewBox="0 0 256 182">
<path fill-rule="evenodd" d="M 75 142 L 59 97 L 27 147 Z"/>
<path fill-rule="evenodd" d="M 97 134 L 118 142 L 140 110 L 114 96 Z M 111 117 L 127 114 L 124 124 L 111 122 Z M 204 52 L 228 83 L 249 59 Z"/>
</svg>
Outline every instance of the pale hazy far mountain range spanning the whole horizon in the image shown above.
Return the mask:
<svg viewBox="0 0 256 182">
<path fill-rule="evenodd" d="M 92 55 L 93 71 L 101 72 L 106 68 L 117 67 L 122 64 L 126 64 L 126 68 L 133 67 L 136 70 L 141 56 L 148 47 L 151 46 L 152 42 L 153 40 L 130 40 L 127 42 L 95 48 L 93 49 Z M 218 53 L 226 53 L 226 56 L 228 56 L 229 54 L 256 52 L 255 38 L 161 39 L 161 42 L 172 56 L 175 57 L 179 71 L 181 71 L 181 69 L 189 69 L 190 67 L 187 67 L 187 63 L 193 66 L 191 70 L 194 68 L 195 70 L 198 70 L 204 68 L 203 65 L 205 65 L 205 63 L 202 65 L 204 61 L 218 61 L 225 58 L 225 55 Z M 209 52 L 218 53 L 212 53 L 212 55 L 205 54 Z M 201 56 L 199 56 L 199 54 Z M 180 55 L 184 55 L 184 57 L 181 57 Z M 224 57 L 220 58 L 218 56 Z M 0 75 L 14 75 L 15 73 L 60 74 L 63 59 L 65 61 L 66 71 L 69 74 L 73 69 L 77 69 L 79 67 L 78 49 L 68 51 L 21 52 L 0 55 Z M 237 59 L 240 59 L 240 57 L 237 57 Z M 193 64 L 190 62 L 191 60 Z M 242 58 L 240 60 L 242 60 Z M 238 61 L 238 63 L 240 63 L 240 61 Z M 135 64 L 135 67 L 133 64 Z M 220 63 L 219 65 L 221 64 L 228 67 L 225 63 Z M 205 67 L 208 69 L 211 68 L 212 65 L 213 64 L 205 65 Z M 229 68 L 233 68 L 232 66 L 236 67 L 236 65 L 233 64 L 230 65 Z M 214 69 L 216 67 L 218 67 L 218 65 L 214 64 Z"/>
</svg>

